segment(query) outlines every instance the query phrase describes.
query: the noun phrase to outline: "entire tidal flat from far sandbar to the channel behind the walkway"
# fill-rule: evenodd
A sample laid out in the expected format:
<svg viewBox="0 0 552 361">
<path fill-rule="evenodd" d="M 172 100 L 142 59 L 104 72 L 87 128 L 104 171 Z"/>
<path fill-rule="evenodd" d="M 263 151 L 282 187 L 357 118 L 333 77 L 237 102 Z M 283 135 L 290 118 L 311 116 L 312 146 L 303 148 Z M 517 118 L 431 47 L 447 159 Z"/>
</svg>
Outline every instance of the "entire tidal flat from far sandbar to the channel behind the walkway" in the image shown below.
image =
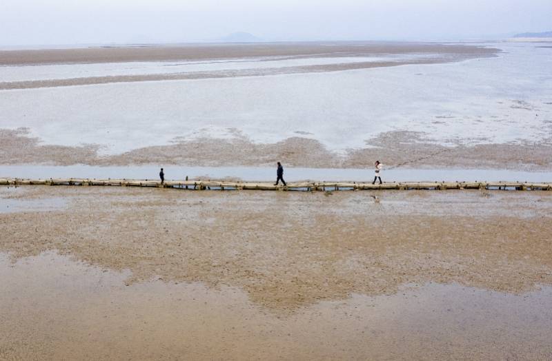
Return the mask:
<svg viewBox="0 0 552 361">
<path fill-rule="evenodd" d="M 0 163 L 548 171 L 547 55 L 377 42 L 0 52 Z"/>
</svg>

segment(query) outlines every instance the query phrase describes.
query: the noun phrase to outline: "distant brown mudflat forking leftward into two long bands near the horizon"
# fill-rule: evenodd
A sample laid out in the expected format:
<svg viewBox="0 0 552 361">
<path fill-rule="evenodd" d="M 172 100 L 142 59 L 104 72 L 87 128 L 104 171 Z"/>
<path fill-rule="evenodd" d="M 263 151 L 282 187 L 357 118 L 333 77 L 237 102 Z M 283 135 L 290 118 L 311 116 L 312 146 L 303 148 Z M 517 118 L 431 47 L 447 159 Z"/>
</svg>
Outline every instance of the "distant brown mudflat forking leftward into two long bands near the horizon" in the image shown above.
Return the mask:
<svg viewBox="0 0 552 361">
<path fill-rule="evenodd" d="M 266 76 L 312 72 L 337 72 L 368 68 L 384 68 L 406 64 L 434 64 L 496 56 L 499 50 L 473 45 L 442 45 L 434 43 L 253 43 L 253 44 L 191 44 L 144 45 L 101 48 L 12 50 L 0 51 L 0 65 L 56 65 L 121 63 L 140 61 L 183 61 L 213 63 L 220 61 L 274 61 L 286 59 L 337 58 L 324 65 L 295 65 L 241 70 L 204 70 L 195 72 L 166 72 L 164 74 L 118 74 L 42 79 L 0 81 L 0 90 L 61 87 L 139 81 L 183 79 L 217 79 L 244 76 Z M 378 61 L 349 63 L 339 58 L 379 58 Z M 174 65 L 174 64 L 173 64 Z"/>
</svg>

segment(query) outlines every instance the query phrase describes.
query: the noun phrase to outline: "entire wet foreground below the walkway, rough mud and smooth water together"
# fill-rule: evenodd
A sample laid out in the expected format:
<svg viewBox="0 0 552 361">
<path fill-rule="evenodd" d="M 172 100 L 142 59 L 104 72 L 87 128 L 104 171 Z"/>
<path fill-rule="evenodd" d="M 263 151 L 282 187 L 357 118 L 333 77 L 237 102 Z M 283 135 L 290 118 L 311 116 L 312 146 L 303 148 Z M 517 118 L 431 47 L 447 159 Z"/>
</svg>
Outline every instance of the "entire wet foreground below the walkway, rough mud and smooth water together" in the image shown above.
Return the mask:
<svg viewBox="0 0 552 361">
<path fill-rule="evenodd" d="M 549 192 L 2 188 L 0 355 L 547 359 L 551 215 Z"/>
</svg>

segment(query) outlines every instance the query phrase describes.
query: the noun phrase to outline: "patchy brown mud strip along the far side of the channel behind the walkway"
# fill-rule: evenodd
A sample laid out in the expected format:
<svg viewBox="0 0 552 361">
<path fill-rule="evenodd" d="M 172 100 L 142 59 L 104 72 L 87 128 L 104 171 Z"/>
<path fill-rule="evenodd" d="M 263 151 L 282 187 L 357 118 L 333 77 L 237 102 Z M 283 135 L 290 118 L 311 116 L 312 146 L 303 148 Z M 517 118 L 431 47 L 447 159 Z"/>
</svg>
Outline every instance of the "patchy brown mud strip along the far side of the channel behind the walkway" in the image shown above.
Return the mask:
<svg viewBox="0 0 552 361">
<path fill-rule="evenodd" d="M 293 167 L 372 167 L 385 159 L 386 167 L 466 167 L 522 170 L 552 169 L 552 138 L 540 143 L 451 145 L 431 143 L 422 134 L 386 132 L 368 140 L 369 147 L 346 155 L 328 151 L 319 141 L 293 137 L 278 143 L 253 143 L 248 138 L 176 140 L 171 145 L 133 149 L 124 154 L 99 156 L 98 145 L 66 147 L 41 145 L 28 130 L 0 130 L 0 164 L 54 165 L 273 165 L 283 161 Z"/>
</svg>

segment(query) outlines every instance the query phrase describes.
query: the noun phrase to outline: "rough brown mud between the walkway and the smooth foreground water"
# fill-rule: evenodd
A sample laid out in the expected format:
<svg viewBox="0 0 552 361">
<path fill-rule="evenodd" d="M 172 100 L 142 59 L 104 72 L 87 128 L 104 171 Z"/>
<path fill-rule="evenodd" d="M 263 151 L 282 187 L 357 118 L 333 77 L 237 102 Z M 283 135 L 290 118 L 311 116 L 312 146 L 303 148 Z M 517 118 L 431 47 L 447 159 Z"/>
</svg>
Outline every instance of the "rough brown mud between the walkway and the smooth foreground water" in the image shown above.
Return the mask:
<svg viewBox="0 0 552 361">
<path fill-rule="evenodd" d="M 509 293 L 552 284 L 552 193 L 195 192 L 20 187 L 12 200 L 64 209 L 0 213 L 0 251 L 58 251 L 152 279 L 243 289 L 292 312 L 405 283 Z"/>
</svg>

